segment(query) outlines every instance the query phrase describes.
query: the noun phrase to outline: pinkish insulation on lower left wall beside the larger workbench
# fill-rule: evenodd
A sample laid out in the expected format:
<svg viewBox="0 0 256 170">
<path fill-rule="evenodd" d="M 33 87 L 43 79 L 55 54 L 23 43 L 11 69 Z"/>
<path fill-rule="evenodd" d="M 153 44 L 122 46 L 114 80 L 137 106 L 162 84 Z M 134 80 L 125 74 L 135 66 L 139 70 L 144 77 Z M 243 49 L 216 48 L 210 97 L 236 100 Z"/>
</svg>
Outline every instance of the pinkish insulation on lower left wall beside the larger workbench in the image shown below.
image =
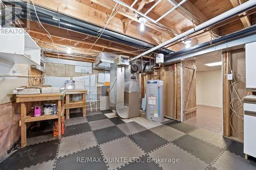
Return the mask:
<svg viewBox="0 0 256 170">
<path fill-rule="evenodd" d="M 20 138 L 20 104 L 0 105 L 0 159 L 7 154 Z"/>
</svg>

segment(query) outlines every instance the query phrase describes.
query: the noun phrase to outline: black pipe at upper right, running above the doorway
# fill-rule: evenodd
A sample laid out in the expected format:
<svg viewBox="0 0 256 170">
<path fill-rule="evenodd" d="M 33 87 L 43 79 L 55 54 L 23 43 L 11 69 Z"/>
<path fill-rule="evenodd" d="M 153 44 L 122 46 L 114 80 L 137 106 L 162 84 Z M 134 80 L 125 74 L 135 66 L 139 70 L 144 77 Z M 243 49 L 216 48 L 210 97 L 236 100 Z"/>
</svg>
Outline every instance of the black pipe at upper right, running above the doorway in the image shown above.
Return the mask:
<svg viewBox="0 0 256 170">
<path fill-rule="evenodd" d="M 228 35 L 224 35 L 224 36 L 222 36 L 220 38 L 216 38 L 216 39 L 214 39 L 212 41 L 204 42 L 202 44 L 195 45 L 195 46 L 193 46 L 191 48 L 184 49 L 184 50 L 181 50 L 181 51 L 178 51 L 178 52 L 166 55 L 164 57 L 164 59 L 165 59 L 165 62 L 168 62 L 167 61 L 168 59 L 177 58 L 177 57 L 179 57 L 181 55 L 184 55 L 186 53 L 190 53 L 190 52 L 199 50 L 200 48 L 203 48 L 203 47 L 206 47 L 206 46 L 210 46 L 210 45 L 216 44 L 216 43 L 221 43 L 223 41 L 228 41 L 230 39 L 234 39 L 234 38 L 237 38 L 237 37 L 245 37 L 245 36 L 248 36 L 249 34 L 255 34 L 255 33 L 256 33 L 256 25 L 253 25 L 253 26 L 245 28 L 243 30 L 240 30 L 240 31 L 228 34 Z"/>
</svg>

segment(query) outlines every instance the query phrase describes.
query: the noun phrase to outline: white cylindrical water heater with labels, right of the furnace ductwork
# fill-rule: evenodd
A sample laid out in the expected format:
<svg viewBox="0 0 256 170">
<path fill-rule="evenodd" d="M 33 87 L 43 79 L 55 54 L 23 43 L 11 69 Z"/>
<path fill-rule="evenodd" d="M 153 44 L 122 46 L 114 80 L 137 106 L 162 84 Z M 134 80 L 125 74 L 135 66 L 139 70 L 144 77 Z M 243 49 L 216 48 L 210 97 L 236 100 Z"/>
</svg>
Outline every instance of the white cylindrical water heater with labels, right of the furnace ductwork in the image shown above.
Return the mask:
<svg viewBox="0 0 256 170">
<path fill-rule="evenodd" d="M 146 83 L 146 118 L 162 122 L 164 119 L 163 80 L 148 80 Z"/>
</svg>

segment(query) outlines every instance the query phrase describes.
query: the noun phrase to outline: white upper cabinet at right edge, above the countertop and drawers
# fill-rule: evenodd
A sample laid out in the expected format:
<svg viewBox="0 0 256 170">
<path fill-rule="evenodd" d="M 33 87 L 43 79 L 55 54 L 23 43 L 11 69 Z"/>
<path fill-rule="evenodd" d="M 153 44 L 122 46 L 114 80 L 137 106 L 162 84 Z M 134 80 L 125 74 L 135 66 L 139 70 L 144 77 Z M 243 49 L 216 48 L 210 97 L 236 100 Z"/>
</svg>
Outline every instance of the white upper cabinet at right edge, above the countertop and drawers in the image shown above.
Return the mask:
<svg viewBox="0 0 256 170">
<path fill-rule="evenodd" d="M 246 89 L 256 91 L 256 42 L 245 44 Z"/>
</svg>

